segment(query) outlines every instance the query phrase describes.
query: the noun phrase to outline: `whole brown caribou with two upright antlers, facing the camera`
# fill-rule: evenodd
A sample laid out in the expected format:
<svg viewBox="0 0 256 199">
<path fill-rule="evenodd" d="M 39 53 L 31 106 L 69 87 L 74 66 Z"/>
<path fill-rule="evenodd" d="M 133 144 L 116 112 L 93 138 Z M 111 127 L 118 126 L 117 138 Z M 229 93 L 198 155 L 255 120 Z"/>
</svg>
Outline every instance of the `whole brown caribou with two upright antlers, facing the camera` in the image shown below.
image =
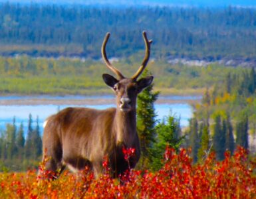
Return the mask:
<svg viewBox="0 0 256 199">
<path fill-rule="evenodd" d="M 150 58 L 150 44 L 146 32 L 142 33 L 146 46 L 144 60 L 132 78 L 126 78 L 112 66 L 106 56 L 106 44 L 110 33 L 102 43 L 102 58 L 106 66 L 118 76 L 103 74 L 106 85 L 116 95 L 116 108 L 104 110 L 86 107 L 67 107 L 45 121 L 43 133 L 43 161 L 45 170 L 53 178 L 68 166 L 77 172 L 88 166 L 97 178 L 103 170 L 102 163 L 108 157 L 113 177 L 134 168 L 140 159 L 140 141 L 136 132 L 136 98 L 153 81 L 153 76 L 137 80 Z M 135 149 L 127 161 L 123 148 Z M 49 158 L 50 157 L 50 158 Z M 59 172 L 57 172 L 59 171 Z M 54 173 L 54 174 L 53 174 Z"/>
</svg>

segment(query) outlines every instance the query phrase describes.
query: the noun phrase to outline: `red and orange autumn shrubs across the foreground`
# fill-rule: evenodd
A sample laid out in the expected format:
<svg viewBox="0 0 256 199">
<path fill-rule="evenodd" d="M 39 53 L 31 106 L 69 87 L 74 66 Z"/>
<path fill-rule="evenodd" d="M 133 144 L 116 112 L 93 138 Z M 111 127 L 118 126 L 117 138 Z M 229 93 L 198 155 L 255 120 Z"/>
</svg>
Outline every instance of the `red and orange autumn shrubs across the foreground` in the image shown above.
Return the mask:
<svg viewBox="0 0 256 199">
<path fill-rule="evenodd" d="M 125 149 L 126 152 L 130 156 L 134 153 L 132 149 Z M 1 173 L 0 198 L 256 197 L 256 159 L 249 159 L 247 151 L 241 147 L 233 156 L 227 152 L 224 161 L 215 161 L 215 155 L 211 153 L 203 163 L 196 165 L 185 149 L 176 153 L 168 148 L 164 162 L 158 172 L 142 174 L 140 170 L 128 170 L 119 180 L 111 178 L 108 169 L 104 169 L 104 174 L 97 179 L 89 168 L 78 174 L 64 171 L 57 180 L 37 178 L 35 170 Z M 107 167 L 106 159 L 104 168 Z"/>
</svg>

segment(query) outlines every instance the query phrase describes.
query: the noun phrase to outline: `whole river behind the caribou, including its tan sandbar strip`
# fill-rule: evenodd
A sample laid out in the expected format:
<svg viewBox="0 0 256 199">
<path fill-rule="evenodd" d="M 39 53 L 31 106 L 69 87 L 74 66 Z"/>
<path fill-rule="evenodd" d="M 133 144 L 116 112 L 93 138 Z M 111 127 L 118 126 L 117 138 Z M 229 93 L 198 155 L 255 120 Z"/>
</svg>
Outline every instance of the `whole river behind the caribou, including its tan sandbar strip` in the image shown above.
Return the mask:
<svg viewBox="0 0 256 199">
<path fill-rule="evenodd" d="M 169 114 L 176 115 L 176 117 L 180 117 L 181 126 L 186 127 L 193 113 L 190 101 L 200 99 L 200 96 L 161 97 L 155 104 L 157 119 L 161 121 Z M 45 119 L 66 107 L 106 109 L 115 107 L 115 104 L 113 96 L 1 96 L 0 129 L 5 129 L 6 124 L 12 123 L 13 117 L 15 117 L 17 127 L 22 122 L 26 133 L 29 114 L 31 114 L 34 126 L 37 116 L 39 117 L 42 133 Z"/>
</svg>

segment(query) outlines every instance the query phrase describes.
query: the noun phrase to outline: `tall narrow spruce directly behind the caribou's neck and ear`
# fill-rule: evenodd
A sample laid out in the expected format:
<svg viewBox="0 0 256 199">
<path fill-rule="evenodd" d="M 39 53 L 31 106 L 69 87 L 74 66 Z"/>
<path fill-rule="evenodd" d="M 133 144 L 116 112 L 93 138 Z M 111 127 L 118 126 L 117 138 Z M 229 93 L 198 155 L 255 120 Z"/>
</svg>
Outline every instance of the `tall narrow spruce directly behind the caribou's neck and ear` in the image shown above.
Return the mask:
<svg viewBox="0 0 256 199">
<path fill-rule="evenodd" d="M 142 77 L 150 74 L 148 70 L 144 70 Z M 137 131 L 140 137 L 140 147 L 142 152 L 141 166 L 146 166 L 146 161 L 150 157 L 150 149 L 152 148 L 156 138 L 156 110 L 154 102 L 158 98 L 159 92 L 153 92 L 154 84 L 145 88 L 139 95 L 137 100 Z"/>
</svg>

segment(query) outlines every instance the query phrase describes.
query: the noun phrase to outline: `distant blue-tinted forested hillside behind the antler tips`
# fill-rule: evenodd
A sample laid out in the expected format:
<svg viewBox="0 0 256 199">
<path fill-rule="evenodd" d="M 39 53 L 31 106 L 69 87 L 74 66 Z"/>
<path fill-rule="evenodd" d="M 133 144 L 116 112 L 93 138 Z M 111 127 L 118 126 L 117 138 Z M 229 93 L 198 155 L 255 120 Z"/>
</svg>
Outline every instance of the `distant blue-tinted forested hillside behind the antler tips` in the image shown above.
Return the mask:
<svg viewBox="0 0 256 199">
<path fill-rule="evenodd" d="M 100 58 L 106 32 L 110 56 L 144 49 L 142 31 L 154 40 L 156 58 L 189 56 L 214 60 L 256 57 L 256 9 L 93 8 L 0 5 L 0 54 Z"/>
</svg>

